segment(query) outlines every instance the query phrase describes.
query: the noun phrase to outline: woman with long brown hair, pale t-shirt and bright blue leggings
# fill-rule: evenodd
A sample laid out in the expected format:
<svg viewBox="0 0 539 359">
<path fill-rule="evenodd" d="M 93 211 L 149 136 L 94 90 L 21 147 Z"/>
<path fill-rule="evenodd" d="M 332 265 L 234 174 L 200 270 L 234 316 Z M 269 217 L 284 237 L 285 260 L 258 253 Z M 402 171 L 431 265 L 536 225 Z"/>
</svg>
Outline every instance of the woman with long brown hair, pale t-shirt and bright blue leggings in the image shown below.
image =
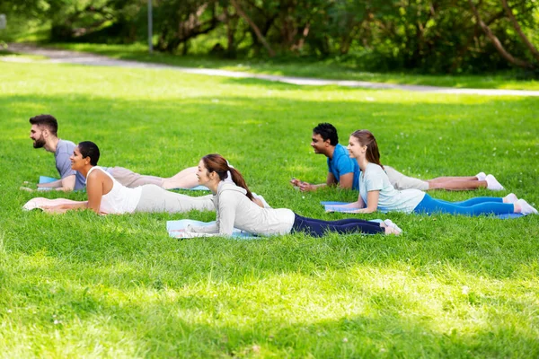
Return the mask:
<svg viewBox="0 0 539 359">
<path fill-rule="evenodd" d="M 348 150 L 350 157 L 358 161 L 361 174 L 358 201 L 340 206 L 349 208 L 347 212 L 371 213 L 380 209 L 452 215 L 537 214 L 534 207 L 512 193 L 506 197 L 475 197 L 463 202 L 449 202 L 430 197 L 419 189 L 397 190 L 393 188 L 384 172 L 376 138 L 370 131 L 354 132 L 349 138 Z"/>
</svg>

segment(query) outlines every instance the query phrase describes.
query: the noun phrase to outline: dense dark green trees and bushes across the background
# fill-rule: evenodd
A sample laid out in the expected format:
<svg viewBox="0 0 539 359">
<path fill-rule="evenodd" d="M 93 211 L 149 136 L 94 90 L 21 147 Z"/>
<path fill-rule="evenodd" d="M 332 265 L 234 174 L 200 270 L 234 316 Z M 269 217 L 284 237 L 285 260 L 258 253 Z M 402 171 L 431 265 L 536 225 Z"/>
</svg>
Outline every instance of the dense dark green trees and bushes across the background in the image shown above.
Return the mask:
<svg viewBox="0 0 539 359">
<path fill-rule="evenodd" d="M 153 0 L 155 48 L 187 54 L 315 56 L 366 69 L 474 72 L 539 67 L 539 0 Z M 147 0 L 4 0 L 50 39 L 145 39 Z"/>
</svg>

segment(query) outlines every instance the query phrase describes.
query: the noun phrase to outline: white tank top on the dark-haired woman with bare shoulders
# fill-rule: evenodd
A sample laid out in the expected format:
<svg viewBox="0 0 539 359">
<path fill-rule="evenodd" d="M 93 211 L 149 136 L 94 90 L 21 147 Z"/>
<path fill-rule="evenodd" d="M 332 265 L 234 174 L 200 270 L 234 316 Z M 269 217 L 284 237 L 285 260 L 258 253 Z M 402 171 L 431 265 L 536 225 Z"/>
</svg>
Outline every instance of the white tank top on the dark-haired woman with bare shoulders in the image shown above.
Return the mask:
<svg viewBox="0 0 539 359">
<path fill-rule="evenodd" d="M 103 170 L 99 166 L 94 166 L 86 174 L 86 179 L 90 176 L 90 173 L 99 169 L 103 171 L 112 180 L 112 188 L 110 192 L 102 196 L 102 203 L 99 210 L 102 213 L 109 215 L 121 215 L 126 213 L 133 213 L 137 208 L 138 201 L 140 201 L 140 195 L 142 194 L 142 187 L 127 188 L 119 184 L 114 177 L 110 176 L 110 173 Z"/>
</svg>

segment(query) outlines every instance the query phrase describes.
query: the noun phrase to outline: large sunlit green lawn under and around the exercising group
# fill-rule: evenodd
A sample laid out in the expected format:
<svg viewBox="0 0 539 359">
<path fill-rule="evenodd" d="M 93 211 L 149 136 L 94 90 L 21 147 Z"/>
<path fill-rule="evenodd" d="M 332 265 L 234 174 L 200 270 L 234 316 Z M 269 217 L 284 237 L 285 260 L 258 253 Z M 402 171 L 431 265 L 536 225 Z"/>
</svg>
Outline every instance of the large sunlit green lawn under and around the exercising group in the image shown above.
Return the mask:
<svg viewBox="0 0 539 359">
<path fill-rule="evenodd" d="M 28 118 L 51 113 L 61 138 L 99 144 L 104 166 L 169 176 L 221 153 L 272 206 L 346 218 L 319 201 L 357 194 L 287 184 L 325 179 L 309 144 L 330 121 L 342 143 L 372 130 L 406 174 L 485 171 L 508 188 L 434 197 L 515 192 L 539 206 L 539 99 L 0 63 L 0 109 L 0 356 L 539 355 L 539 216 L 372 214 L 404 234 L 176 241 L 167 220 L 215 214 L 46 215 L 23 212 L 37 195 L 18 189 L 57 174 L 28 138 Z"/>
</svg>

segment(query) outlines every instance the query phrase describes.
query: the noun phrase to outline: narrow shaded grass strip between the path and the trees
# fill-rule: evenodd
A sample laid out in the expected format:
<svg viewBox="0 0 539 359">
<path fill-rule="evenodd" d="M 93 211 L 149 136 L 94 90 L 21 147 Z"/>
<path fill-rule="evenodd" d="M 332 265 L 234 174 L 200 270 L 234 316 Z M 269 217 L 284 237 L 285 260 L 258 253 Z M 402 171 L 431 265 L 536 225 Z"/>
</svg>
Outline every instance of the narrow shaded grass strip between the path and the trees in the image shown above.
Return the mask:
<svg viewBox="0 0 539 359">
<path fill-rule="evenodd" d="M 519 80 L 516 74 L 481 75 L 429 75 L 402 73 L 370 73 L 358 70 L 354 64 L 338 63 L 335 60 L 313 61 L 312 59 L 248 59 L 226 60 L 204 56 L 172 56 L 169 54 L 148 54 L 144 44 L 102 45 L 102 44 L 54 44 L 57 48 L 93 52 L 119 59 L 155 62 L 173 66 L 219 68 L 254 74 L 281 74 L 325 79 L 356 80 L 374 83 L 402 83 L 456 88 L 539 90 L 537 80 Z"/>
</svg>

